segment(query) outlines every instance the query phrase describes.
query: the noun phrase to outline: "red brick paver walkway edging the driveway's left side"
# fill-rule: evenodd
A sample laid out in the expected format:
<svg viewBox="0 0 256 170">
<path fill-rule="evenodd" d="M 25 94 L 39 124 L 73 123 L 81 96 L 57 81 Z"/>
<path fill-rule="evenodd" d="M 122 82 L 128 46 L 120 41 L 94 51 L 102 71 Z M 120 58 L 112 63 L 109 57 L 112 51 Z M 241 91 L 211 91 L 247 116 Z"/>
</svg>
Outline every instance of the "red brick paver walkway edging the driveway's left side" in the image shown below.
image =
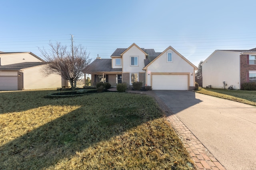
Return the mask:
<svg viewBox="0 0 256 170">
<path fill-rule="evenodd" d="M 116 91 L 116 88 L 109 89 Z M 133 91 L 129 93 L 146 94 L 152 96 L 158 105 L 166 112 L 166 118 L 171 123 L 173 129 L 180 137 L 182 143 L 194 160 L 198 170 L 226 170 L 218 160 L 208 151 L 204 145 L 190 132 L 190 130 L 180 121 L 180 119 L 167 107 L 162 100 L 154 94 L 154 91 Z"/>
</svg>

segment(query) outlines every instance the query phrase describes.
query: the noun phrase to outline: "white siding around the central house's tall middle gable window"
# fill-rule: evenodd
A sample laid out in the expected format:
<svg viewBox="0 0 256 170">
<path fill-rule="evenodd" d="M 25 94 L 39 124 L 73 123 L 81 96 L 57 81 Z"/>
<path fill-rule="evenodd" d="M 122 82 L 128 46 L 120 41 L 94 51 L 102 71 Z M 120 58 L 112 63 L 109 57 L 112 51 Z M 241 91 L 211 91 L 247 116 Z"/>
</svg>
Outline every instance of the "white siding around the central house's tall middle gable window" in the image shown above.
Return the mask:
<svg viewBox="0 0 256 170">
<path fill-rule="evenodd" d="M 138 57 L 138 66 L 131 66 L 131 57 Z M 143 72 L 142 68 L 144 65 L 144 59 L 146 55 L 141 49 L 138 49 L 135 45 L 126 51 L 123 56 L 123 72 L 139 73 Z"/>
</svg>

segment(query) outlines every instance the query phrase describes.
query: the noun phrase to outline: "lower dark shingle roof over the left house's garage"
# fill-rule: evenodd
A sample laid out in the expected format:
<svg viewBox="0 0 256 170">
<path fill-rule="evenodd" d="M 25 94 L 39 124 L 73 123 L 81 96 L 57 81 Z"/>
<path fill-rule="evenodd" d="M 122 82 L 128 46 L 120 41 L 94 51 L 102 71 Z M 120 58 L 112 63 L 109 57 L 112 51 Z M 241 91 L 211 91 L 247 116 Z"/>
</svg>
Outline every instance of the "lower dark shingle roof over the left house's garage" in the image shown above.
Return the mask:
<svg viewBox="0 0 256 170">
<path fill-rule="evenodd" d="M 24 62 L 24 63 L 8 64 L 8 65 L 0 66 L 0 70 L 21 70 L 23 68 L 39 66 L 42 64 L 46 64 L 46 63 L 45 62 Z"/>
</svg>

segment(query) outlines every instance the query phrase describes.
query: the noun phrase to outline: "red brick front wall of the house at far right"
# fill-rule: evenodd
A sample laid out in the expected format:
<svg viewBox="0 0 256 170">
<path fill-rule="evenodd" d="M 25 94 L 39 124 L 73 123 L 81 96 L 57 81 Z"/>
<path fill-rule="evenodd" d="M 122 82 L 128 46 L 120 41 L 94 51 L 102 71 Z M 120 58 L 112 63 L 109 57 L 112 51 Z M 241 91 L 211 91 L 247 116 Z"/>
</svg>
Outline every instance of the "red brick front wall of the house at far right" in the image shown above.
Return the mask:
<svg viewBox="0 0 256 170">
<path fill-rule="evenodd" d="M 249 65 L 247 56 L 249 55 L 240 55 L 240 88 L 241 84 L 248 82 L 247 74 L 249 75 L 249 70 L 256 70 L 256 65 Z"/>
</svg>

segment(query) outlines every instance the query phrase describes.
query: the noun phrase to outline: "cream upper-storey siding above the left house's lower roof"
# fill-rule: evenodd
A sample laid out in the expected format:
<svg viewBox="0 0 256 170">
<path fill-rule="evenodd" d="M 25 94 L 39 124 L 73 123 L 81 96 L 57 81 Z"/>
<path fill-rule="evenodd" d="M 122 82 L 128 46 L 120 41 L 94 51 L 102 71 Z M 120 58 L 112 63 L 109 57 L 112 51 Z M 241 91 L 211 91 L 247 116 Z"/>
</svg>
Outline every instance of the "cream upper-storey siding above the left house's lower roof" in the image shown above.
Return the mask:
<svg viewBox="0 0 256 170">
<path fill-rule="evenodd" d="M 16 53 L 0 55 L 1 65 L 24 63 L 24 62 L 42 62 L 38 58 L 34 57 L 30 53 Z"/>
</svg>

